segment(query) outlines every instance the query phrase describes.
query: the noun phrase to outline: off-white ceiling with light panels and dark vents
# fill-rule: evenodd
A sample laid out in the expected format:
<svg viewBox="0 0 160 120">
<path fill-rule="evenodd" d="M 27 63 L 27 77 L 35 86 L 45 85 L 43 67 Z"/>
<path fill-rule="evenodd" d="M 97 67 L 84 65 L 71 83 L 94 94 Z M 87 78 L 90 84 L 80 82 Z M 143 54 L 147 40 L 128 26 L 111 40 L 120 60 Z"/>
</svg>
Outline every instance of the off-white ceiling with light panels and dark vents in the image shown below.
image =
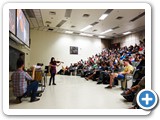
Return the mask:
<svg viewBox="0 0 160 120">
<path fill-rule="evenodd" d="M 102 36 L 102 32 L 112 29 L 103 34 L 103 37 L 114 38 L 123 36 L 124 32 L 134 33 L 145 29 L 144 9 L 24 9 L 23 11 L 29 20 L 30 29 L 40 31 L 60 33 L 72 31 L 72 34 L 79 35 L 82 33 L 82 28 L 92 25 L 83 33 L 98 37 Z M 104 13 L 108 16 L 104 20 L 99 20 Z"/>
</svg>

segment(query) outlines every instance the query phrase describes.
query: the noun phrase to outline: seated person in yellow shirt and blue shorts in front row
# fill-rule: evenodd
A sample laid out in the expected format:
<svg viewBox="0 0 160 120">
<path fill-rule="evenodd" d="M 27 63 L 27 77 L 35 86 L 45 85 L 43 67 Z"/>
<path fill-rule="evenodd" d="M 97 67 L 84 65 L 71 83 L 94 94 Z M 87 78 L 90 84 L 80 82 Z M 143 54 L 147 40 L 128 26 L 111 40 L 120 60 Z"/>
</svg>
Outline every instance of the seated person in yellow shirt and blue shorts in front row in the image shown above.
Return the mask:
<svg viewBox="0 0 160 120">
<path fill-rule="evenodd" d="M 124 59 L 123 62 L 124 62 L 124 66 L 125 66 L 124 70 L 122 72 L 119 72 L 119 73 L 111 73 L 110 74 L 110 85 L 108 87 L 105 87 L 105 88 L 112 88 L 112 85 L 113 85 L 113 82 L 114 82 L 115 78 L 124 79 L 126 74 L 130 74 L 130 73 L 133 72 L 134 68 L 133 68 L 132 65 L 130 65 L 129 60 Z"/>
</svg>

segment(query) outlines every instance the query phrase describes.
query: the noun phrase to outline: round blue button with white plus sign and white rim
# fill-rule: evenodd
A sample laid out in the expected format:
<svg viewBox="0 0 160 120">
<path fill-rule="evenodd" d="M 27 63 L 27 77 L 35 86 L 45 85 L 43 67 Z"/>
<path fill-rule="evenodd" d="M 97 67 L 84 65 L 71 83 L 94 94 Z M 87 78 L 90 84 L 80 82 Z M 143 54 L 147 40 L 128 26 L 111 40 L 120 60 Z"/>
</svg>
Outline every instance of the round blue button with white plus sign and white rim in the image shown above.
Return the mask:
<svg viewBox="0 0 160 120">
<path fill-rule="evenodd" d="M 144 110 L 150 110 L 157 104 L 157 94 L 153 90 L 141 90 L 137 95 L 137 103 Z"/>
</svg>

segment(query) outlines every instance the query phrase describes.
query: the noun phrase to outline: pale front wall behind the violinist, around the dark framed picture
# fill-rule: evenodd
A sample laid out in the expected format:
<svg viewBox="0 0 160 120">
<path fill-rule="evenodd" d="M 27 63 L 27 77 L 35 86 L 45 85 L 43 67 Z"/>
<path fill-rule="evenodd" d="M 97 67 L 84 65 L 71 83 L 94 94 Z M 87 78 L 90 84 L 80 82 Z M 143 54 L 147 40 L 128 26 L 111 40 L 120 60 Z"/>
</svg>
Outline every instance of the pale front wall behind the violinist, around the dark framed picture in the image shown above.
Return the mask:
<svg viewBox="0 0 160 120">
<path fill-rule="evenodd" d="M 79 48 L 78 55 L 70 55 L 70 46 Z M 69 66 L 100 52 L 101 40 L 98 38 L 31 30 L 31 65 L 37 62 L 48 65 L 53 56 Z"/>
</svg>

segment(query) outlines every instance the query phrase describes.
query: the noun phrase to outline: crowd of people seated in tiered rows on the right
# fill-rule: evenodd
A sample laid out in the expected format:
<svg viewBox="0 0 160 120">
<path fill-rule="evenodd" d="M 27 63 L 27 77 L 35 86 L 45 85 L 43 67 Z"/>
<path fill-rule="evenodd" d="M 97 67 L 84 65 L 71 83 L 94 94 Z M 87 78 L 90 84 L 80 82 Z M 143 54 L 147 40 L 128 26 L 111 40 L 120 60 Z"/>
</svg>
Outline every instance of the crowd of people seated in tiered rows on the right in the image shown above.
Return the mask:
<svg viewBox="0 0 160 120">
<path fill-rule="evenodd" d="M 112 88 L 115 80 L 125 79 L 125 75 L 131 74 L 136 68 L 133 76 L 132 88 L 125 91 L 122 95 L 130 94 L 144 88 L 145 76 L 145 46 L 144 42 L 139 45 L 129 47 L 108 49 L 105 48 L 101 53 L 92 55 L 87 60 L 80 60 L 71 63 L 69 67 L 63 69 L 63 75 L 75 74 L 84 77 L 86 80 L 97 81 L 97 84 L 109 84 L 105 88 Z M 143 79 L 142 79 L 143 77 Z M 143 85 L 142 85 L 142 84 Z M 118 84 L 118 83 L 117 83 Z M 134 98 L 135 102 L 136 97 Z M 133 108 L 136 108 L 134 104 Z"/>
</svg>

